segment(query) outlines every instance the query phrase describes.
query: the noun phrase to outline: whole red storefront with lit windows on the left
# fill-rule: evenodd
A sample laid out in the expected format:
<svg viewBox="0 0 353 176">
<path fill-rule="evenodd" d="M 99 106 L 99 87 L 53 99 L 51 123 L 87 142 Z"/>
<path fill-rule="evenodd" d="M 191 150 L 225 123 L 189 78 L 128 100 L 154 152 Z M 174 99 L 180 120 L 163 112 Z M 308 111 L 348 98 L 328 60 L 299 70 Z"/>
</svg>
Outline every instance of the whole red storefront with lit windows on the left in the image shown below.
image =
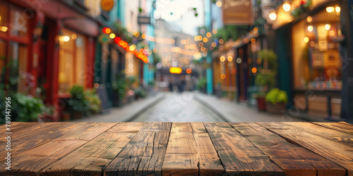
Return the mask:
<svg viewBox="0 0 353 176">
<path fill-rule="evenodd" d="M 82 9 L 52 0 L 0 3 L 1 82 L 18 77 L 12 88 L 54 106 L 54 121 L 73 85 L 93 85 L 97 22 Z"/>
</svg>

